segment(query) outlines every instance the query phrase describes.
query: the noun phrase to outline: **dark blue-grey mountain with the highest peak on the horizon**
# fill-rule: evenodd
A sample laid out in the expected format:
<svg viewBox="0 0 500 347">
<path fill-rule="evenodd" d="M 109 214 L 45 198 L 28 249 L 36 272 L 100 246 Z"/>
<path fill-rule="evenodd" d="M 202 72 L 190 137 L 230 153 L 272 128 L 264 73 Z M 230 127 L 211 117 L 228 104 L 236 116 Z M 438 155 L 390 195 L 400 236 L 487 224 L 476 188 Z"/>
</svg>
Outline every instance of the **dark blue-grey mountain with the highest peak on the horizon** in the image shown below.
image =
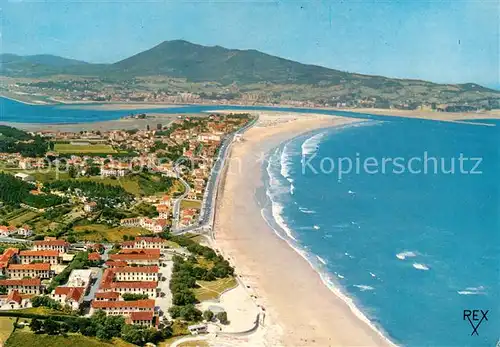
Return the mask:
<svg viewBox="0 0 500 347">
<path fill-rule="evenodd" d="M 168 75 L 223 84 L 339 83 L 351 77 L 346 72 L 300 64 L 256 50 L 206 47 L 182 40 L 165 41 L 113 64 L 112 68 L 137 76 Z"/>
</svg>

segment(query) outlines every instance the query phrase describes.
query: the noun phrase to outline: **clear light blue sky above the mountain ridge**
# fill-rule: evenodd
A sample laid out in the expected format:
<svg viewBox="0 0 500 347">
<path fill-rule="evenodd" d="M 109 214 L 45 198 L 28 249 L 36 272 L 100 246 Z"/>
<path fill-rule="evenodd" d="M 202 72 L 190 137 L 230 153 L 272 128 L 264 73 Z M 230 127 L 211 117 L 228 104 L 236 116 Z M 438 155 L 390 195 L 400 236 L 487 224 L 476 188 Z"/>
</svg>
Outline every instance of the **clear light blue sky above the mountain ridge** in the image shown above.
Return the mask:
<svg viewBox="0 0 500 347">
<path fill-rule="evenodd" d="M 497 0 L 3 0 L 0 8 L 3 53 L 110 63 L 184 39 L 349 72 L 500 88 Z"/>
</svg>

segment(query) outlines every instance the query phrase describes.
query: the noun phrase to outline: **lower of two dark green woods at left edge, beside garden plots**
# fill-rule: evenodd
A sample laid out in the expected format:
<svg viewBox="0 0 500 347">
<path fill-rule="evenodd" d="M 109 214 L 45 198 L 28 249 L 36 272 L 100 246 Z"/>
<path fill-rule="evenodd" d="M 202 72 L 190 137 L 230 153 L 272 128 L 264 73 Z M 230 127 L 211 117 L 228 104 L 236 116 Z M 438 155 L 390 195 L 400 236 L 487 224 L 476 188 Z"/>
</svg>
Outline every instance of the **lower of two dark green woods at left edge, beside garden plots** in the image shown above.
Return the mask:
<svg viewBox="0 0 500 347">
<path fill-rule="evenodd" d="M 33 195 L 34 186 L 12 175 L 0 173 L 0 200 L 6 204 L 18 206 L 23 203 L 36 208 L 47 208 L 66 201 L 52 194 Z"/>
</svg>

